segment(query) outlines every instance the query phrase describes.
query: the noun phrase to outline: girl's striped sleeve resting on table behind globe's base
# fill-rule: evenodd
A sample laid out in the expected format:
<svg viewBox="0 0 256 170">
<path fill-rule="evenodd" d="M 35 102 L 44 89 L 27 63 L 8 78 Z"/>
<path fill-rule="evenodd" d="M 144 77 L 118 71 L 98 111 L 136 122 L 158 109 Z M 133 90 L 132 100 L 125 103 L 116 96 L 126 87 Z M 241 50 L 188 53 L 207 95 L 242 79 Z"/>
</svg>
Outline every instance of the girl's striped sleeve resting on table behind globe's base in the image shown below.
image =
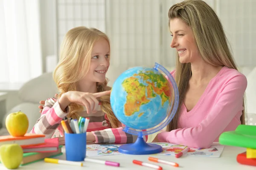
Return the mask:
<svg viewBox="0 0 256 170">
<path fill-rule="evenodd" d="M 123 131 L 124 127 L 109 128 L 105 130 L 93 131 L 96 138 L 95 143 L 115 143 L 115 144 L 129 144 L 137 140 L 137 135 L 131 135 Z M 145 130 L 143 130 L 145 131 Z M 148 140 L 148 135 L 143 136 L 144 140 Z"/>
</svg>

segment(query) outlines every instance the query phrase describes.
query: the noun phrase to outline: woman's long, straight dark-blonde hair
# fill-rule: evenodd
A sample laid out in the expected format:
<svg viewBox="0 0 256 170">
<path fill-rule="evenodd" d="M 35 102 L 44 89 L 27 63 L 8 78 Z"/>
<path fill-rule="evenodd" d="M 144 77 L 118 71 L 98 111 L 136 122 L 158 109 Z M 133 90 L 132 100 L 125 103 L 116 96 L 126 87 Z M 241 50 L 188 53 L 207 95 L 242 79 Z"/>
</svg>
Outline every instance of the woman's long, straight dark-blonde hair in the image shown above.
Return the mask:
<svg viewBox="0 0 256 170">
<path fill-rule="evenodd" d="M 168 12 L 169 27 L 170 20 L 179 18 L 190 28 L 195 37 L 195 43 L 202 59 L 212 66 L 227 66 L 238 70 L 236 63 L 228 46 L 227 37 L 221 22 L 214 10 L 203 0 L 185 0 L 173 5 Z M 181 104 L 185 98 L 189 79 L 191 78 L 191 64 L 180 63 L 179 55 L 176 53 L 175 81 L 179 90 L 179 104 L 177 112 L 167 126 L 167 130 L 177 129 L 180 116 Z M 244 100 L 243 100 L 244 106 Z M 244 106 L 245 107 L 245 106 Z M 245 123 L 245 112 L 242 111 L 241 124 Z"/>
</svg>

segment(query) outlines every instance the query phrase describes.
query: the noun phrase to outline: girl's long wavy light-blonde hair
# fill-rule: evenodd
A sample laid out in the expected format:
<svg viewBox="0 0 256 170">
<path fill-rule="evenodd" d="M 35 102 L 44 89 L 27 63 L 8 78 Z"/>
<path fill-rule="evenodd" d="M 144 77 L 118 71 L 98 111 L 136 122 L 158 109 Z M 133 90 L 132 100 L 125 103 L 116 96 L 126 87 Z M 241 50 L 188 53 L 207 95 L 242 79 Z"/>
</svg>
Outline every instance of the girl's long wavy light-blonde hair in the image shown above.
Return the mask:
<svg viewBox="0 0 256 170">
<path fill-rule="evenodd" d="M 53 79 L 60 92 L 58 98 L 65 92 L 77 91 L 79 80 L 89 71 L 93 46 L 101 37 L 105 38 L 110 46 L 108 36 L 98 29 L 79 26 L 67 32 L 61 44 L 59 63 L 53 72 Z M 97 92 L 110 90 L 111 87 L 107 84 L 108 79 L 103 83 L 97 83 Z M 99 98 L 99 101 L 102 111 L 108 116 L 111 127 L 119 127 L 120 123 L 110 105 L 110 95 Z M 83 111 L 83 107 L 76 103 L 71 103 L 69 109 L 67 117 L 71 118 L 79 118 L 78 113 Z"/>
</svg>

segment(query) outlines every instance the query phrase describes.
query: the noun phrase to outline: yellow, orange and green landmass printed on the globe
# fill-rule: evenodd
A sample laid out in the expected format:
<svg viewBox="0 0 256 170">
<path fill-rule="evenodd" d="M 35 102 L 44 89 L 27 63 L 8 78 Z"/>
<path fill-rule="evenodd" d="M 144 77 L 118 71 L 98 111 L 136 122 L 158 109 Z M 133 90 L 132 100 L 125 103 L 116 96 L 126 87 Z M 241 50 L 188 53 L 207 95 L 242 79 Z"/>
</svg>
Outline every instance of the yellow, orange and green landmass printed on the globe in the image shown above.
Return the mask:
<svg viewBox="0 0 256 170">
<path fill-rule="evenodd" d="M 124 106 L 125 115 L 127 116 L 139 112 L 142 105 L 148 104 L 157 95 L 162 100 L 162 107 L 166 101 L 170 100 L 169 81 L 162 74 L 156 74 L 151 70 L 139 71 L 139 73 L 133 74 L 132 77 L 126 78 L 122 82 L 122 86 L 127 92 Z M 144 112 L 141 112 L 138 117 L 143 114 Z"/>
</svg>

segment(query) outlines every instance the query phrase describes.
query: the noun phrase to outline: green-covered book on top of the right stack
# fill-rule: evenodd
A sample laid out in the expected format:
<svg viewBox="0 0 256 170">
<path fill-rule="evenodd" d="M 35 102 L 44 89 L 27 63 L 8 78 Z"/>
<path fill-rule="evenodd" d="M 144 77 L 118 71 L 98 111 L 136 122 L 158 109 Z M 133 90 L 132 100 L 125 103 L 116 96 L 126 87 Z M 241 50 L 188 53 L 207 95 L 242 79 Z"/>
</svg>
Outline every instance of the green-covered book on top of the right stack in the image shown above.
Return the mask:
<svg viewBox="0 0 256 170">
<path fill-rule="evenodd" d="M 256 126 L 240 124 L 236 130 L 222 133 L 219 143 L 256 149 Z"/>
</svg>

